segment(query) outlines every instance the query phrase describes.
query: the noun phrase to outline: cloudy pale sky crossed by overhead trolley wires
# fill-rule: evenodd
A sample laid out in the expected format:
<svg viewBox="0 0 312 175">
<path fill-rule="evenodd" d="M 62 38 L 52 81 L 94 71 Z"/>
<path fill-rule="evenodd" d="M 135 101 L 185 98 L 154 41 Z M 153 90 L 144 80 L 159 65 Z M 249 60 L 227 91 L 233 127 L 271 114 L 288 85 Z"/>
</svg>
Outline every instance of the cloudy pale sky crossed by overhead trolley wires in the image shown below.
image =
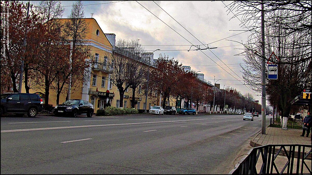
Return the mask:
<svg viewBox="0 0 312 175">
<path fill-rule="evenodd" d="M 71 6 L 73 2 L 61 1 L 61 5 Z M 39 1 L 30 3 L 38 5 Z M 203 73 L 212 84 L 220 83 L 222 89 L 227 86 L 236 88 L 243 95 L 249 92 L 261 103 L 260 93 L 251 91 L 243 81 L 237 81 L 242 80 L 240 64 L 246 65 L 243 56 L 234 55 L 243 52 L 243 46 L 238 42 L 246 43 L 251 33 L 240 31 L 245 30 L 241 22 L 232 18 L 233 14 L 224 5 L 230 1 L 224 1 L 224 4 L 222 1 L 82 1 L 82 4 L 85 17 L 90 18 L 94 13 L 93 18 L 103 32 L 114 33 L 116 40 L 139 39 L 146 51 L 160 49 L 154 52 L 154 59 L 159 54 L 173 57 L 195 72 Z M 67 18 L 71 7 L 64 8 L 63 18 Z M 191 47 L 202 44 L 217 48 L 201 51 Z M 200 48 L 207 47 L 202 45 Z"/>
</svg>

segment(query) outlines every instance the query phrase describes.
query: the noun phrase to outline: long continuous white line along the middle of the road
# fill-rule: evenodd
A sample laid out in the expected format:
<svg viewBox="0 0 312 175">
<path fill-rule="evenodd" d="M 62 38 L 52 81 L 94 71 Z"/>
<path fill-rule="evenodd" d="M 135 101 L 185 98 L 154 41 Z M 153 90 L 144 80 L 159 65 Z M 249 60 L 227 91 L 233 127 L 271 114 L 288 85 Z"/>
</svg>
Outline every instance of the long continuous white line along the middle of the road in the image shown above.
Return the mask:
<svg viewBox="0 0 312 175">
<path fill-rule="evenodd" d="M 54 129 L 67 129 L 67 128 L 84 128 L 94 126 L 115 126 L 115 125 L 137 125 L 137 124 L 150 124 L 150 123 L 168 123 L 168 122 L 180 122 L 180 121 L 200 121 L 200 120 L 214 120 L 214 119 L 229 119 L 229 118 L 241 118 L 241 117 L 226 117 L 226 118 L 212 118 L 212 119 L 193 119 L 193 120 L 173 120 L 173 121 L 151 121 L 151 122 L 139 122 L 139 123 L 119 123 L 119 124 L 104 124 L 104 125 L 80 125 L 80 126 L 63 126 L 52 128 L 33 128 L 33 129 L 19 129 L 19 130 L 2 130 L 1 132 L 18 132 L 18 131 L 33 131 L 33 130 L 54 130 Z"/>
</svg>

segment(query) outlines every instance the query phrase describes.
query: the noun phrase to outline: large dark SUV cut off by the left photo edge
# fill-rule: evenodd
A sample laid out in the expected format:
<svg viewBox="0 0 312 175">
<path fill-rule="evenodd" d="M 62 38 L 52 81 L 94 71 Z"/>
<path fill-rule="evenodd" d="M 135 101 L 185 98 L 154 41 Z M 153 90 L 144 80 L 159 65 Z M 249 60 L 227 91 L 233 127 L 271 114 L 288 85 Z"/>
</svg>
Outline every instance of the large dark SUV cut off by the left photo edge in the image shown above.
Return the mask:
<svg viewBox="0 0 312 175">
<path fill-rule="evenodd" d="M 17 116 L 36 117 L 42 111 L 43 101 L 38 94 L 3 93 L 1 94 L 0 114 L 13 113 Z"/>
</svg>

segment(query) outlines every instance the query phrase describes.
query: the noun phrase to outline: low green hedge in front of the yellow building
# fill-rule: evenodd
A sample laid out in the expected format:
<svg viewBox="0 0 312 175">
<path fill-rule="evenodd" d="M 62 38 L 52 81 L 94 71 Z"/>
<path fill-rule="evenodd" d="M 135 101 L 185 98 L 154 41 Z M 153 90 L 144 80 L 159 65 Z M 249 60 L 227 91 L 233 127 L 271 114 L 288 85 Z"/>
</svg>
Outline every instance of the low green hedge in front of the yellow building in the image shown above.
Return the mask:
<svg viewBox="0 0 312 175">
<path fill-rule="evenodd" d="M 139 111 L 134 108 L 117 108 L 113 106 L 108 106 L 104 110 L 97 110 L 97 116 L 112 116 L 112 115 L 122 115 L 122 114 L 138 114 Z"/>
</svg>

